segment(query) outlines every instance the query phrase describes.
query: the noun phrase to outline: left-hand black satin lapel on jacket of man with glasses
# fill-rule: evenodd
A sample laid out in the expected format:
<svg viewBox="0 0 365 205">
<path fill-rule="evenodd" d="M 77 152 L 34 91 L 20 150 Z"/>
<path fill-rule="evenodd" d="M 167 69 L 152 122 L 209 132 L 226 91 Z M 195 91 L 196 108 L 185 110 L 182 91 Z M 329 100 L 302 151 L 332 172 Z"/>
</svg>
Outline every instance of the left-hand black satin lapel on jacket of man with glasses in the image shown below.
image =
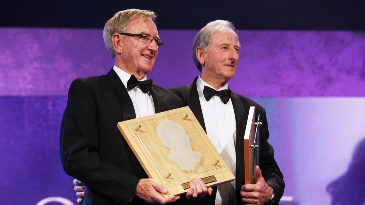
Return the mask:
<svg viewBox="0 0 365 205">
<path fill-rule="evenodd" d="M 122 107 L 123 121 L 136 118 L 132 100 L 118 75 L 113 69 L 111 69 L 107 74 L 107 77 L 114 89 L 116 96 L 118 97 L 120 107 Z"/>
</svg>

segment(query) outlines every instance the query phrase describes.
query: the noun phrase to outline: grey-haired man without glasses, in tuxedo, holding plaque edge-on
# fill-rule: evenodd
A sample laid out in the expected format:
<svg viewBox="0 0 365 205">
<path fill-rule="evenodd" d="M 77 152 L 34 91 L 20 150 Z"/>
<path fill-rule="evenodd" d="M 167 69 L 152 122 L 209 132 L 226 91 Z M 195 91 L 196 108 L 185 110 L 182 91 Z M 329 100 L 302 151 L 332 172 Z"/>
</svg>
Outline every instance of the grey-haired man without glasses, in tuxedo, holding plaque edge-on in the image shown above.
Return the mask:
<svg viewBox="0 0 365 205">
<path fill-rule="evenodd" d="M 265 109 L 228 88 L 228 80 L 237 69 L 240 47 L 231 22 L 208 23 L 195 36 L 192 46 L 193 60 L 201 75 L 187 86 L 169 89 L 191 108 L 236 177 L 234 182 L 218 186 L 212 196 L 197 200 L 197 204 L 278 204 L 283 196 L 283 174 L 267 141 Z M 255 117 L 260 114 L 262 122 L 260 167 L 256 167 L 257 183 L 244 185 L 243 136 L 250 106 L 255 106 Z"/>
</svg>

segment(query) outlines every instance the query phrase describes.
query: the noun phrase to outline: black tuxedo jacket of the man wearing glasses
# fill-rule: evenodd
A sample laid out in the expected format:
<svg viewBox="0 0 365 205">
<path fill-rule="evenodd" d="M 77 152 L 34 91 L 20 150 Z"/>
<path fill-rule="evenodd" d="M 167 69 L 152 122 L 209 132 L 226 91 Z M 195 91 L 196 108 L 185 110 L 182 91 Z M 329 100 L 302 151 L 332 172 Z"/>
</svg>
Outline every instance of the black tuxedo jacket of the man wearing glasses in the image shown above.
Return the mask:
<svg viewBox="0 0 365 205">
<path fill-rule="evenodd" d="M 181 99 L 152 85 L 155 112 L 180 108 Z M 135 118 L 132 101 L 113 69 L 72 82 L 62 118 L 60 155 L 65 172 L 88 185 L 82 204 L 143 204 L 133 197 L 148 178 L 116 124 Z"/>
</svg>

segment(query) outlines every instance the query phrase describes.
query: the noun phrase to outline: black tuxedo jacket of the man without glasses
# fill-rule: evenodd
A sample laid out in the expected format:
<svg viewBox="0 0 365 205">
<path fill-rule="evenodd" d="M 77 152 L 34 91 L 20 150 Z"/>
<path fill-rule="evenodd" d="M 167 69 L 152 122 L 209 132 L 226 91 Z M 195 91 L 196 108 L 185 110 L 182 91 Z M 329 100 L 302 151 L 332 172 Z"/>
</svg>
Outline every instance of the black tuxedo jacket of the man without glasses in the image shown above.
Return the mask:
<svg viewBox="0 0 365 205">
<path fill-rule="evenodd" d="M 183 100 L 183 106 L 189 106 L 191 111 L 196 116 L 197 120 L 201 124 L 201 127 L 206 132 L 203 113 L 201 112 L 199 96 L 196 88 L 196 80 L 188 84 L 187 86 L 181 86 L 169 89 L 173 93 L 177 94 Z M 268 143 L 269 128 L 266 119 L 266 112 L 263 107 L 249 98 L 243 97 L 239 94 L 231 92 L 231 101 L 233 104 L 236 125 L 237 125 L 237 138 L 236 138 L 236 196 L 237 204 L 241 204 L 241 186 L 245 184 L 245 165 L 244 165 L 244 151 L 243 151 L 243 136 L 245 135 L 245 128 L 247 123 L 247 117 L 250 106 L 255 106 L 255 117 L 257 119 L 260 114 L 261 118 L 261 130 L 260 130 L 260 170 L 266 183 L 273 187 L 276 194 L 276 204 L 280 201 L 284 192 L 284 180 L 275 159 L 273 147 Z M 215 193 L 211 197 L 206 196 L 205 200 L 198 200 L 197 204 L 213 204 L 215 201 Z"/>
</svg>

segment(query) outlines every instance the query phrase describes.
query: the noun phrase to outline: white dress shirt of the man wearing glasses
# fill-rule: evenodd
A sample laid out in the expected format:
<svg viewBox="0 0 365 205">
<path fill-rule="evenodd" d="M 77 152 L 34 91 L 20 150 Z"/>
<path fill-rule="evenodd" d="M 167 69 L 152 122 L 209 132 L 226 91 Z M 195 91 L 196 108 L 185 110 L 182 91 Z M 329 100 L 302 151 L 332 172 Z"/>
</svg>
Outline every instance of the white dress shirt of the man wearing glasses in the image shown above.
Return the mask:
<svg viewBox="0 0 365 205">
<path fill-rule="evenodd" d="M 124 87 L 127 89 L 127 82 L 131 75 L 116 66 L 114 66 L 113 69 L 119 76 Z M 141 81 L 145 80 L 147 80 L 147 75 Z M 127 89 L 127 92 L 131 97 L 136 118 L 155 114 L 155 106 L 153 104 L 153 98 L 150 92 L 143 93 L 139 86 L 136 86 L 130 90 Z"/>
</svg>

